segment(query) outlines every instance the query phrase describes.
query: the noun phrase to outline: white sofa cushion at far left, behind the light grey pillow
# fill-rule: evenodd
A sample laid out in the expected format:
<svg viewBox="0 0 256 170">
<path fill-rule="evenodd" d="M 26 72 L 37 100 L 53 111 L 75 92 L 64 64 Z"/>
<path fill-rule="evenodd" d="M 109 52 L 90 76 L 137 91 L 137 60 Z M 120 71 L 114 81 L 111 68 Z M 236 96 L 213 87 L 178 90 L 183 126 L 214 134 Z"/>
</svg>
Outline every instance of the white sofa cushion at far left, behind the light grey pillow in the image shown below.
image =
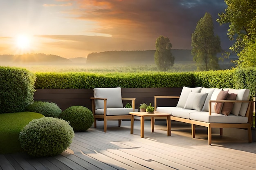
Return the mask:
<svg viewBox="0 0 256 170">
<path fill-rule="evenodd" d="M 180 99 L 179 99 L 176 107 L 183 108 L 186 104 L 186 99 L 188 98 L 189 93 L 191 91 L 199 93 L 201 91 L 201 89 L 202 89 L 202 87 L 185 87 L 185 86 L 183 86 L 181 94 L 180 94 Z"/>
</svg>

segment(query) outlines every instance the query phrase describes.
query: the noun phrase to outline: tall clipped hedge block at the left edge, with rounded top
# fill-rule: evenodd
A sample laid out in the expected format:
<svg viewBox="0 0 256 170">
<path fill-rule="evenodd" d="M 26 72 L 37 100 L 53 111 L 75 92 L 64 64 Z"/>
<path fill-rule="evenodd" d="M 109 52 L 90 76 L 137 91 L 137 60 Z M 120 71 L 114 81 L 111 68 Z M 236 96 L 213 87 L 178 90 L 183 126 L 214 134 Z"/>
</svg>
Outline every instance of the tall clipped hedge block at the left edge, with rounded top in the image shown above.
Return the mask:
<svg viewBox="0 0 256 170">
<path fill-rule="evenodd" d="M 0 66 L 0 113 L 25 111 L 33 103 L 35 75 L 23 68 Z"/>
</svg>

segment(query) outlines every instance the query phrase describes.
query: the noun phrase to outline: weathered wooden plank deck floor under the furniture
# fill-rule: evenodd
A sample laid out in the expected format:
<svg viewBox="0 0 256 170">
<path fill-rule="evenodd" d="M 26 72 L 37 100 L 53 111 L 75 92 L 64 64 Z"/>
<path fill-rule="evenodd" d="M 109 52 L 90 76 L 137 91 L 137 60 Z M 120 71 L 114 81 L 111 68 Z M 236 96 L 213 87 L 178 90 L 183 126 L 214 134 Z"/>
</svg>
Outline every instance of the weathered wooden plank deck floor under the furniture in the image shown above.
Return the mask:
<svg viewBox="0 0 256 170">
<path fill-rule="evenodd" d="M 56 157 L 31 158 L 26 154 L 0 155 L 0 170 L 252 170 L 256 169 L 256 142 L 213 135 L 208 145 L 207 129 L 197 128 L 191 138 L 190 125 L 172 121 L 171 137 L 166 121 L 156 121 L 155 132 L 145 121 L 140 137 L 140 121 L 135 121 L 134 135 L 130 121 L 103 122 L 98 128 L 76 132 L 66 151 Z"/>
</svg>

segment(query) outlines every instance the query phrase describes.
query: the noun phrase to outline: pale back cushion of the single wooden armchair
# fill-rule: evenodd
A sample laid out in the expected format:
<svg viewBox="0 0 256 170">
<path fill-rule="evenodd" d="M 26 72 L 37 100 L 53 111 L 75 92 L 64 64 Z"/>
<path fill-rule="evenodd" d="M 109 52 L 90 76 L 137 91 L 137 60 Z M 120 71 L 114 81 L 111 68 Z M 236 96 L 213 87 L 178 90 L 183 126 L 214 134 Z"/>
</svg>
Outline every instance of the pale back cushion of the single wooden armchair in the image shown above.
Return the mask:
<svg viewBox="0 0 256 170">
<path fill-rule="evenodd" d="M 107 108 L 123 108 L 121 88 L 94 88 L 94 97 L 107 98 Z M 103 100 L 95 100 L 95 109 L 104 108 Z"/>
</svg>

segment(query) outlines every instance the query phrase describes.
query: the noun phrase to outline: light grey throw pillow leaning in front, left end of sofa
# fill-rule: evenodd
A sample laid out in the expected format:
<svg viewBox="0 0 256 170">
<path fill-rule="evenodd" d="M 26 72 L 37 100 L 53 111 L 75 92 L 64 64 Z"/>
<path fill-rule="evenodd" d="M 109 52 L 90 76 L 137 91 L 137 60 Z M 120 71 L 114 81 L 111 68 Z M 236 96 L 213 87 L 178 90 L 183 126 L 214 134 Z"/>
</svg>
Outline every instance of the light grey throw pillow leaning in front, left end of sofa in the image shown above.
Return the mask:
<svg viewBox="0 0 256 170">
<path fill-rule="evenodd" d="M 190 92 L 183 109 L 201 111 L 208 93 Z"/>
</svg>

